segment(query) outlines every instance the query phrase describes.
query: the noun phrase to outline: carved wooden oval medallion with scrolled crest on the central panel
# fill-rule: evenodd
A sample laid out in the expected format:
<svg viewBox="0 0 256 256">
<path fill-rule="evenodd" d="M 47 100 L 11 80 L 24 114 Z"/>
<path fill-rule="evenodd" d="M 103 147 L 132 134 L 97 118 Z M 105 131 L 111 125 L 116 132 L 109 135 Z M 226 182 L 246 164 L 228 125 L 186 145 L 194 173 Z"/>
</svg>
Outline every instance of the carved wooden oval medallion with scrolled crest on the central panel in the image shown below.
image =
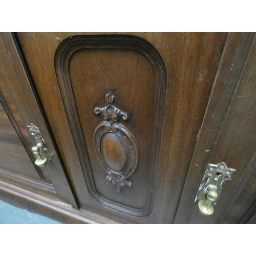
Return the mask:
<svg viewBox="0 0 256 256">
<path fill-rule="evenodd" d="M 127 181 L 136 170 L 139 161 L 137 142 L 132 133 L 118 121 L 127 120 L 128 115 L 113 104 L 114 95 L 105 95 L 107 106 L 96 107 L 95 114 L 102 113 L 106 121 L 101 122 L 94 132 L 94 145 L 98 160 L 108 174 L 106 180 L 112 182 L 121 191 L 123 187 L 131 187 Z"/>
</svg>

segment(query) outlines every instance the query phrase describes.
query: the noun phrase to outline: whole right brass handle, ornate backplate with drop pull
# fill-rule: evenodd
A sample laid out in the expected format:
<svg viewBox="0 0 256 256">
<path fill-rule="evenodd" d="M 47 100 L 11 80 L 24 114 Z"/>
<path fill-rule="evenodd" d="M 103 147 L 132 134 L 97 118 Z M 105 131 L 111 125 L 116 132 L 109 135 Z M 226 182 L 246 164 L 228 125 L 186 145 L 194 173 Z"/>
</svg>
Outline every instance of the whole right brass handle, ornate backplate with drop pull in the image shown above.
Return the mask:
<svg viewBox="0 0 256 256">
<path fill-rule="evenodd" d="M 198 207 L 202 215 L 212 215 L 224 181 L 231 180 L 231 174 L 235 169 L 228 168 L 224 162 L 208 164 L 203 180 L 199 187 L 195 202 L 198 200 Z"/>
</svg>

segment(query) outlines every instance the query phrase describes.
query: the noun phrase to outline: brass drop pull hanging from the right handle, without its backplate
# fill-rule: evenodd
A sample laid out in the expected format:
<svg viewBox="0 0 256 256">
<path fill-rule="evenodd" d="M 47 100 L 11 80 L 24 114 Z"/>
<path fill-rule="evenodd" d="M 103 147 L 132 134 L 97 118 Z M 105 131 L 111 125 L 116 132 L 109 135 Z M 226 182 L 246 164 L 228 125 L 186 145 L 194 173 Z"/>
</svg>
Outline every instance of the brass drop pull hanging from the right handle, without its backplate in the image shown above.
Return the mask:
<svg viewBox="0 0 256 256">
<path fill-rule="evenodd" d="M 215 185 L 208 185 L 207 187 L 207 198 L 202 199 L 198 202 L 198 207 L 203 215 L 211 215 L 214 213 L 214 202 L 218 198 L 217 187 Z"/>
</svg>

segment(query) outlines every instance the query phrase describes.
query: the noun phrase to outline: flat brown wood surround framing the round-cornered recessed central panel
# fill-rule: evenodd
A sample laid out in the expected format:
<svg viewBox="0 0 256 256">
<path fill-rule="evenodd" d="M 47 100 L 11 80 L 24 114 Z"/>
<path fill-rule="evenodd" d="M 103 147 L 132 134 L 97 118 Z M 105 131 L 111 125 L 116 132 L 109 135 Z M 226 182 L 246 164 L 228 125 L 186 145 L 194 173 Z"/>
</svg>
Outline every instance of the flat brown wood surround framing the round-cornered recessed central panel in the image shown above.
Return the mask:
<svg viewBox="0 0 256 256">
<path fill-rule="evenodd" d="M 58 45 L 65 38 L 78 34 L 139 36 L 156 48 L 165 63 L 168 78 L 167 95 L 164 102 L 158 174 L 153 210 L 147 217 L 131 218 L 120 216 L 115 211 L 109 212 L 108 209 L 99 207 L 95 200 L 91 200 L 86 189 L 78 155 L 74 154 L 76 147 L 54 71 L 54 54 Z M 17 33 L 61 157 L 83 207 L 113 220 L 125 222 L 172 223 L 174 221 L 226 36 L 227 33 Z M 102 97 L 104 94 L 98 97 L 100 104 L 97 106 L 102 106 Z M 129 113 L 129 108 L 124 110 Z M 134 130 L 131 129 L 131 132 L 133 133 Z M 73 158 L 70 159 L 70 156 Z"/>
</svg>

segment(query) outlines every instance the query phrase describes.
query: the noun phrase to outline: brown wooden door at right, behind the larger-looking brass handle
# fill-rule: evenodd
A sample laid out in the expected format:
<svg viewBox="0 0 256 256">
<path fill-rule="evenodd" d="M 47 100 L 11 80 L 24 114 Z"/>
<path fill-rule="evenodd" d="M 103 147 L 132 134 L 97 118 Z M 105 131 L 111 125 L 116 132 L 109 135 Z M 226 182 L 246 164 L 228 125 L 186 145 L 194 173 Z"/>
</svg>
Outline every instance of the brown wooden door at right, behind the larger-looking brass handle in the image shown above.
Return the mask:
<svg viewBox="0 0 256 256">
<path fill-rule="evenodd" d="M 255 222 L 256 90 L 254 33 L 231 33 L 226 41 L 175 218 L 176 223 Z M 222 184 L 214 214 L 195 201 L 209 163 L 236 169 Z"/>
</svg>

